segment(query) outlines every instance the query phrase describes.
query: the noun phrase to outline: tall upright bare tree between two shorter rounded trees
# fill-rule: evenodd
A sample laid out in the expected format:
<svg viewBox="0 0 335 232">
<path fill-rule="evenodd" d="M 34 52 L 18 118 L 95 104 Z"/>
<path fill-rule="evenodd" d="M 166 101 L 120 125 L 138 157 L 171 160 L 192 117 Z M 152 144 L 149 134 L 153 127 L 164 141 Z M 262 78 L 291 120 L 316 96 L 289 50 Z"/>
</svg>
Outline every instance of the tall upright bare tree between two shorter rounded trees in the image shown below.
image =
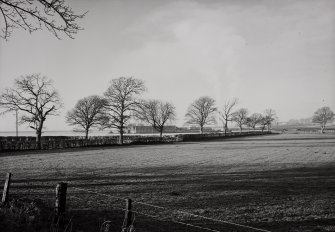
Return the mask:
<svg viewBox="0 0 335 232">
<path fill-rule="evenodd" d="M 144 82 L 133 77 L 113 79 L 104 93 L 107 104 L 106 112 L 110 118 L 108 127 L 116 128 L 120 133 L 120 144 L 123 144 L 124 128 L 137 108 L 137 96 L 145 91 Z"/>
</svg>

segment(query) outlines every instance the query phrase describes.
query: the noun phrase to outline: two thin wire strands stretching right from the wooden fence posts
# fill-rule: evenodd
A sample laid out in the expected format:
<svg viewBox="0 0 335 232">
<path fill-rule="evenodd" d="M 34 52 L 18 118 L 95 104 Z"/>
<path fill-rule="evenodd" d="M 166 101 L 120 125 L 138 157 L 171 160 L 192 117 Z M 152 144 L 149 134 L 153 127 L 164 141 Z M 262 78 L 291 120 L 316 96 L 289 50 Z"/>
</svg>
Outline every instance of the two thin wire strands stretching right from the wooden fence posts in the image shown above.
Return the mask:
<svg viewBox="0 0 335 232">
<path fill-rule="evenodd" d="M 79 191 L 84 191 L 84 192 L 95 194 L 95 195 L 104 196 L 104 197 L 107 197 L 107 198 L 117 199 L 117 200 L 125 201 L 125 200 L 128 199 L 128 198 L 117 197 L 117 196 L 114 196 L 114 195 L 111 195 L 111 194 L 99 193 L 99 192 L 96 192 L 96 191 L 93 191 L 93 190 L 88 190 L 88 189 L 83 189 L 83 188 L 78 188 L 78 187 L 72 187 L 72 189 L 79 190 Z M 167 207 L 163 207 L 163 206 L 153 205 L 153 204 L 146 203 L 146 202 L 141 202 L 141 201 L 134 200 L 133 203 L 139 204 L 139 205 L 149 206 L 149 207 L 156 208 L 156 209 L 163 209 L 163 210 L 167 210 L 167 211 L 172 211 L 172 212 L 176 212 L 176 213 L 179 213 L 179 214 L 189 215 L 189 216 L 196 217 L 196 218 L 206 219 L 206 220 L 213 221 L 213 222 L 219 222 L 219 223 L 222 223 L 222 224 L 228 224 L 228 225 L 231 225 L 231 226 L 235 226 L 235 227 L 239 227 L 239 228 L 245 228 L 245 229 L 249 229 L 249 230 L 253 230 L 253 231 L 271 232 L 270 230 L 266 230 L 266 229 L 261 229 L 261 228 L 247 226 L 247 225 L 243 225 L 243 224 L 239 224 L 239 223 L 234 223 L 234 222 L 229 222 L 229 221 L 225 221 L 225 220 L 220 220 L 220 219 L 210 218 L 210 217 L 206 217 L 206 216 L 201 216 L 201 215 L 189 213 L 189 212 L 182 211 L 182 210 L 176 210 L 176 209 L 171 209 L 171 208 L 167 208 Z M 112 207 L 115 208 L 115 209 L 118 209 L 118 210 L 127 211 L 127 209 L 124 209 L 124 208 L 119 208 L 119 207 L 114 207 L 114 206 L 112 206 Z M 198 228 L 198 229 L 202 229 L 202 230 L 206 230 L 206 231 L 221 232 L 219 230 L 210 229 L 210 228 L 206 228 L 206 227 L 202 227 L 202 226 L 198 226 L 198 225 L 193 225 L 193 224 L 186 223 L 186 222 L 180 222 L 180 221 L 170 219 L 170 218 L 162 218 L 162 217 L 158 217 L 158 216 L 154 216 L 154 215 L 151 215 L 151 214 L 146 214 L 146 213 L 139 212 L 139 211 L 134 211 L 134 210 L 130 210 L 130 211 L 133 212 L 133 213 L 139 214 L 139 215 L 147 216 L 147 217 L 150 217 L 150 218 L 155 218 L 157 220 L 168 220 L 168 221 L 171 221 L 171 222 L 174 222 L 174 223 L 178 223 L 178 224 L 182 224 L 182 225 L 185 225 L 185 226 Z"/>
</svg>

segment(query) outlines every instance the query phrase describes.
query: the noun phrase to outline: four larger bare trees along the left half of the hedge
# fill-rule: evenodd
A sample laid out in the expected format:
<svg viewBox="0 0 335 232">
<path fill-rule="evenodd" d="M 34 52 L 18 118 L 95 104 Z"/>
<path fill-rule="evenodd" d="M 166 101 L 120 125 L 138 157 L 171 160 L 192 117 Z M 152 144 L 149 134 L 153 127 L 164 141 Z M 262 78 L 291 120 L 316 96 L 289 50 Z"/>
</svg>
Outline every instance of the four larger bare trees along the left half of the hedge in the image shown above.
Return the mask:
<svg viewBox="0 0 335 232">
<path fill-rule="evenodd" d="M 129 120 L 133 117 L 151 125 L 162 136 L 163 128 L 174 120 L 175 107 L 160 100 L 143 100 L 140 95 L 146 91 L 144 82 L 133 77 L 113 79 L 103 96 L 93 95 L 80 99 L 66 115 L 69 125 L 85 130 L 115 128 L 120 134 L 120 144 Z M 28 123 L 36 132 L 38 149 L 44 122 L 49 115 L 57 115 L 62 107 L 58 92 L 47 77 L 40 74 L 21 76 L 13 88 L 7 88 L 0 95 L 2 113 L 20 111 L 20 123 Z"/>
</svg>

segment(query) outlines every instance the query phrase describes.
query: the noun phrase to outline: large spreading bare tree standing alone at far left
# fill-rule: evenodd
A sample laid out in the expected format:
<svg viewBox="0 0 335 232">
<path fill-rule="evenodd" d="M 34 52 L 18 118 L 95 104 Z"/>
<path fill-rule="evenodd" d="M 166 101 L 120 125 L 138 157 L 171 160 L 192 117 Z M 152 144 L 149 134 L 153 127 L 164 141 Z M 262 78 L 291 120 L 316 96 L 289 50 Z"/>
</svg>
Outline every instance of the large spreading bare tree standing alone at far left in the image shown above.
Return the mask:
<svg viewBox="0 0 335 232">
<path fill-rule="evenodd" d="M 22 76 L 15 80 L 14 88 L 6 89 L 0 95 L 0 106 L 4 113 L 20 110 L 21 123 L 28 123 L 36 131 L 37 149 L 41 149 L 44 122 L 49 115 L 56 115 L 62 106 L 52 81 L 40 74 Z"/>
</svg>

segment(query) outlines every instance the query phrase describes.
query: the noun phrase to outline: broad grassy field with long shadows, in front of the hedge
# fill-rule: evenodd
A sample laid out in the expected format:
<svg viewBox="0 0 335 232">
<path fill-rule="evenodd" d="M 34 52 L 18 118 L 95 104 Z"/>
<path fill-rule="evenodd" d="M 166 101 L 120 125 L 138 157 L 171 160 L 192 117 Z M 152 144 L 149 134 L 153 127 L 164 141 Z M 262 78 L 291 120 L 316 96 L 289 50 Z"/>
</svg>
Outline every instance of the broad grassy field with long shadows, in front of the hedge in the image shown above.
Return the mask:
<svg viewBox="0 0 335 232">
<path fill-rule="evenodd" d="M 171 220 L 253 231 L 176 210 L 270 231 L 335 231 L 335 135 L 3 153 L 0 164 L 15 197 L 52 202 L 56 183 L 68 182 L 74 231 L 98 231 L 104 219 L 120 228 L 124 201 L 108 195 L 165 207 L 134 203 L 136 231 L 206 231 Z"/>
</svg>

